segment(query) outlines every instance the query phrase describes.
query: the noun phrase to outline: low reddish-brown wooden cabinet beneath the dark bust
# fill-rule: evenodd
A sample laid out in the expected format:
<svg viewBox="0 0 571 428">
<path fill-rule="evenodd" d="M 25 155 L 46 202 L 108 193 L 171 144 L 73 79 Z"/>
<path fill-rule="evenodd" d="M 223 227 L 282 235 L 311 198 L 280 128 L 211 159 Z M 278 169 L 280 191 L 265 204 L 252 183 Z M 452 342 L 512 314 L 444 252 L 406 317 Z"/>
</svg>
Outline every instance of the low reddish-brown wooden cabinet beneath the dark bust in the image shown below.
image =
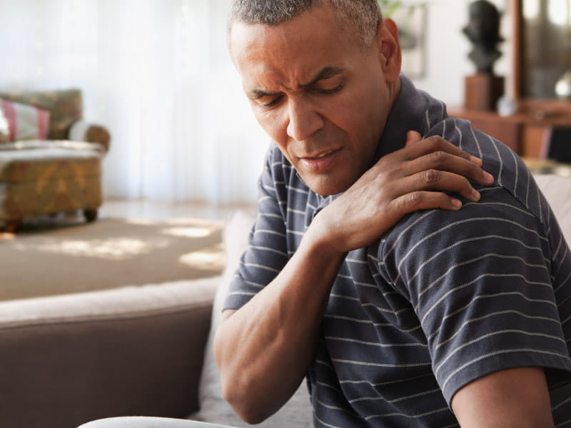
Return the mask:
<svg viewBox="0 0 571 428">
<path fill-rule="evenodd" d="M 542 151 L 552 126 L 571 128 L 571 111 L 539 112 L 500 116 L 493 111 L 448 109 L 450 116 L 468 119 L 475 128 L 497 138 L 526 158 L 543 157 Z"/>
</svg>

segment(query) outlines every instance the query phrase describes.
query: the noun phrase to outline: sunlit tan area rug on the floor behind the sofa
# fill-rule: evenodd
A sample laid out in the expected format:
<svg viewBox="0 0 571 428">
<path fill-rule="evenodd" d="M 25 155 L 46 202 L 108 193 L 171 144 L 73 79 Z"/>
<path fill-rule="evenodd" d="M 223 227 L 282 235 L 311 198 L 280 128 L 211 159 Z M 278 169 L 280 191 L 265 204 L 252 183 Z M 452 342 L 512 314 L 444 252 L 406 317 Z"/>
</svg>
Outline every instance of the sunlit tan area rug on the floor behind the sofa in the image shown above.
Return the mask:
<svg viewBox="0 0 571 428">
<path fill-rule="evenodd" d="M 0 300 L 218 275 L 221 228 L 193 218 L 102 218 L 0 233 Z"/>
</svg>

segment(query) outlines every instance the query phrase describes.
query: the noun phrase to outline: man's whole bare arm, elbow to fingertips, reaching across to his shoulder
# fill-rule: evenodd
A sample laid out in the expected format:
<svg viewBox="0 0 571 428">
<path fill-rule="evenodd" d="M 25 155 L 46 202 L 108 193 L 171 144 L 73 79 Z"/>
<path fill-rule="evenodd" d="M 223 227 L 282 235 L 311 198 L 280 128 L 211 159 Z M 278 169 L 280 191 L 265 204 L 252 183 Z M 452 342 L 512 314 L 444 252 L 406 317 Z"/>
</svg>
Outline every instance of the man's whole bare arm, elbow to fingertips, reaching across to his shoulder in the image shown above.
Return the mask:
<svg viewBox="0 0 571 428">
<path fill-rule="evenodd" d="M 370 245 L 408 213 L 460 209 L 455 198 L 433 190 L 479 200 L 467 178 L 493 182 L 480 166 L 442 138 L 415 142 L 384 156 L 315 217 L 278 276 L 240 310 L 225 312 L 218 327 L 214 354 L 223 394 L 240 417 L 261 422 L 299 386 L 345 254 Z"/>
</svg>

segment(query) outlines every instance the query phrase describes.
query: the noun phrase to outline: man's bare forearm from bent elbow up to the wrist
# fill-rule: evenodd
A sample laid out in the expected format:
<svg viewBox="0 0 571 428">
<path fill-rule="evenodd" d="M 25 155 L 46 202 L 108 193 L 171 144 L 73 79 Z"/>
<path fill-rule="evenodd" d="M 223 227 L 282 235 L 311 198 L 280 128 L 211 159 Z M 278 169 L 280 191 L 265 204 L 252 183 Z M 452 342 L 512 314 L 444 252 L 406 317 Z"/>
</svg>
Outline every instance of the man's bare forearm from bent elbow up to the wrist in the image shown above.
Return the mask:
<svg viewBox="0 0 571 428">
<path fill-rule="evenodd" d="M 310 228 L 273 282 L 221 323 L 215 357 L 223 393 L 248 422 L 276 412 L 305 377 L 344 255 Z"/>
</svg>

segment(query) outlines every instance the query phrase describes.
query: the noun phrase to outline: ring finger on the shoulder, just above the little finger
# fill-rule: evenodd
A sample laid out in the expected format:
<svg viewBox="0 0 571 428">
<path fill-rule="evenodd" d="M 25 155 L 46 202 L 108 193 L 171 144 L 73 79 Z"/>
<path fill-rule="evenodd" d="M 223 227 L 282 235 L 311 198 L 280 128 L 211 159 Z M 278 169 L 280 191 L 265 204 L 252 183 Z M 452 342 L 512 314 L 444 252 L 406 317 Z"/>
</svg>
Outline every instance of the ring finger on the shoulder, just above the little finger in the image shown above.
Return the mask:
<svg viewBox="0 0 571 428">
<path fill-rule="evenodd" d="M 442 170 L 430 169 L 410 175 L 402 181 L 402 188 L 399 189 L 403 195 L 418 190 L 440 190 L 458 193 L 474 202 L 481 198 L 480 192 L 475 190 L 470 181 L 463 175 Z"/>
</svg>

